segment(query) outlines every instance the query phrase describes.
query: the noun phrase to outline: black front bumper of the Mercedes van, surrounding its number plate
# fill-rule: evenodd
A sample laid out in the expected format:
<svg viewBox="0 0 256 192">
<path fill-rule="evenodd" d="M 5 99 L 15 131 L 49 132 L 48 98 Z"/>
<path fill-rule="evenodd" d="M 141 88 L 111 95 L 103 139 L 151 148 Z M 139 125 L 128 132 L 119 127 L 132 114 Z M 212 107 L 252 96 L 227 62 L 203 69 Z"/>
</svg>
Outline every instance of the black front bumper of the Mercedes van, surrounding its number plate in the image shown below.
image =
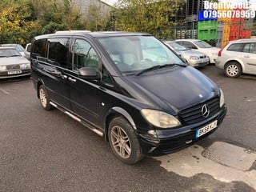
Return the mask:
<svg viewBox="0 0 256 192">
<path fill-rule="evenodd" d="M 146 135 L 139 135 L 140 143 L 142 146 L 143 154 L 147 156 L 160 156 L 164 154 L 170 154 L 175 151 L 181 150 L 186 146 L 190 146 L 192 143 L 205 138 L 207 135 L 212 134 L 218 129 L 218 126 L 222 123 L 226 116 L 226 105 L 222 106 L 218 114 L 208 119 L 206 122 L 197 123 L 196 125 L 185 126 L 176 129 L 172 134 L 164 134 L 165 131 L 161 131 L 161 136 L 149 138 Z M 202 135 L 202 137 L 196 138 L 196 131 L 202 127 L 208 125 L 210 122 L 218 120 L 217 128 L 210 130 L 210 132 Z"/>
</svg>

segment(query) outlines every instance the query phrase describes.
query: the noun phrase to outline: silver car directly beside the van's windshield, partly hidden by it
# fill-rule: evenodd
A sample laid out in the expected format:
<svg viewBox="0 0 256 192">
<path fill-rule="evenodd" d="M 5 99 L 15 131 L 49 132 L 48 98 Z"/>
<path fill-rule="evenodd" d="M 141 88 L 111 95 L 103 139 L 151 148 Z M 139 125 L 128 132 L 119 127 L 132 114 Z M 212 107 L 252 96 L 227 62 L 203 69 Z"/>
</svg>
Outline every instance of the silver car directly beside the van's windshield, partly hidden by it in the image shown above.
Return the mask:
<svg viewBox="0 0 256 192">
<path fill-rule="evenodd" d="M 190 50 L 186 46 L 178 44 L 174 41 L 165 41 L 166 45 L 170 47 L 171 50 L 174 50 L 180 57 L 186 61 L 190 66 L 207 66 L 209 64 L 209 58 L 206 54 L 202 54 L 196 50 Z"/>
</svg>

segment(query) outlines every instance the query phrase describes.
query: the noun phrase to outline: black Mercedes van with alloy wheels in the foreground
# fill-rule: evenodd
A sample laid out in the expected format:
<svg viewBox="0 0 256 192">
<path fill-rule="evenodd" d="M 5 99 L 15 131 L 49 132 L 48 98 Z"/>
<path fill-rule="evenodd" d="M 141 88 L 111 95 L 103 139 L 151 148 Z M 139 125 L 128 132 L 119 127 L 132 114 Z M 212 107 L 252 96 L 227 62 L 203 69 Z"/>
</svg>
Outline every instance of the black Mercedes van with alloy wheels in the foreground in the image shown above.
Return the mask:
<svg viewBox="0 0 256 192">
<path fill-rule="evenodd" d="M 150 34 L 46 34 L 30 54 L 42 107 L 104 137 L 127 164 L 180 150 L 226 115 L 222 90 Z"/>
</svg>

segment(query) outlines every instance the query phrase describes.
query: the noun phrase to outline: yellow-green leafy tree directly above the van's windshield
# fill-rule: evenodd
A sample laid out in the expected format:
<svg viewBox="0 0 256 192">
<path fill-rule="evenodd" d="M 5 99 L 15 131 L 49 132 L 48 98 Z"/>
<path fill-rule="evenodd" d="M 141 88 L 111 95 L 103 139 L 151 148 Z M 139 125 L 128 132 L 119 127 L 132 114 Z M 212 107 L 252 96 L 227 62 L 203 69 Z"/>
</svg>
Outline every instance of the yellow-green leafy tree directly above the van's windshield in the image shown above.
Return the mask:
<svg viewBox="0 0 256 192">
<path fill-rule="evenodd" d="M 158 38 L 172 38 L 170 30 L 175 26 L 172 17 L 180 1 L 119 0 L 115 10 L 114 26 L 117 30 L 142 31 Z"/>
</svg>

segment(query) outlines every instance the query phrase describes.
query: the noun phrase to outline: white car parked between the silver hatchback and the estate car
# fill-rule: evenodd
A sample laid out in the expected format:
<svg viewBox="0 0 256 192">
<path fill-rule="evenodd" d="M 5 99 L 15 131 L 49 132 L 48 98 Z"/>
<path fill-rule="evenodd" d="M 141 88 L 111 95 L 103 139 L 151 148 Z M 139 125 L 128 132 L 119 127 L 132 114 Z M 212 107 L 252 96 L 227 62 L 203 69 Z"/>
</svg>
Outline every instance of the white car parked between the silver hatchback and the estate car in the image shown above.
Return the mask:
<svg viewBox="0 0 256 192">
<path fill-rule="evenodd" d="M 198 39 L 178 39 L 176 42 L 191 50 L 198 50 L 206 54 L 210 58 L 210 63 L 215 63 L 215 59 L 218 57 L 218 51 L 220 50 L 220 48 L 210 46 L 207 42 Z"/>
</svg>

